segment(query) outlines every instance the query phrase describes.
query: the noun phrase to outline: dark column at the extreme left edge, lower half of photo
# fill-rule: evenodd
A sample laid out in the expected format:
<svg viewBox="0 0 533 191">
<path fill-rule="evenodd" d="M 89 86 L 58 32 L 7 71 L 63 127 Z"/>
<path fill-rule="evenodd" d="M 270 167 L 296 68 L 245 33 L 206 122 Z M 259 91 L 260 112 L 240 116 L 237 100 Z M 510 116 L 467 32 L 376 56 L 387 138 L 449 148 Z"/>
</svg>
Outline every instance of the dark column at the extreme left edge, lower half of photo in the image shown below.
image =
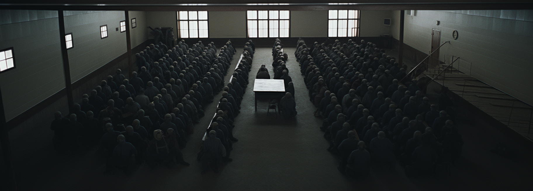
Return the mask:
<svg viewBox="0 0 533 191">
<path fill-rule="evenodd" d="M 0 141 L 2 143 L 2 154 L 4 156 L 4 165 L 5 165 L 5 185 L 6 190 L 16 190 L 17 181 L 15 181 L 15 175 L 13 173 L 13 164 L 11 164 L 11 146 L 9 143 L 9 130 L 7 129 L 5 121 L 5 112 L 4 112 L 4 103 L 2 100 L 2 90 L 0 90 Z"/>
</svg>

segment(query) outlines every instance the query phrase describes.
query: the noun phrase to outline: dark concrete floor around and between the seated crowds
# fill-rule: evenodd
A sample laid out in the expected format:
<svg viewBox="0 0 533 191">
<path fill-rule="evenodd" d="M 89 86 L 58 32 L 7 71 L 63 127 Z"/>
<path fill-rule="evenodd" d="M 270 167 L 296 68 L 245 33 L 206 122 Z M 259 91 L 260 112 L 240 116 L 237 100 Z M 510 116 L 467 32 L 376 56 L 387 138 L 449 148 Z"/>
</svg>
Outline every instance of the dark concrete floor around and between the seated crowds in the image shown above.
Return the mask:
<svg viewBox="0 0 533 191">
<path fill-rule="evenodd" d="M 240 54 L 242 49 L 237 48 Z M 235 119 L 233 135 L 239 142 L 233 144 L 232 162 L 224 164 L 220 173 L 212 171 L 200 175 L 201 164 L 196 160 L 201 138 L 210 117 L 215 112 L 215 102 L 204 109 L 206 117 L 195 125 L 195 133 L 188 138 L 182 150 L 185 161 L 191 166 L 173 169 L 140 166 L 133 175 L 120 171 L 103 175 L 103 155 L 96 149 L 76 154 L 59 154 L 53 151 L 51 138 L 45 138 L 32 152 L 14 147 L 14 166 L 20 190 L 531 190 L 533 165 L 531 151 L 524 150 L 510 138 L 476 118 L 475 114 L 461 109 L 458 114 L 459 133 L 465 142 L 461 160 L 450 173 L 438 177 L 407 178 L 403 168 L 395 171 L 373 167 L 366 179 L 345 177 L 336 166 L 338 158 L 327 152 L 327 141 L 322 138 L 319 126 L 322 119 L 313 117 L 316 109 L 309 101 L 294 48 L 285 48 L 289 55 L 287 67 L 295 86 L 296 109 L 294 119 L 281 119 L 266 114 L 266 101 L 258 103 L 254 111 L 253 82 L 255 73 L 265 64 L 272 74 L 271 48 L 257 48 L 254 55 L 249 84 Z M 238 55 L 230 68 L 235 67 Z M 230 75 L 226 76 L 228 82 Z M 271 75 L 273 76 L 273 75 Z M 430 89 L 438 86 L 431 84 Z M 434 91 L 429 91 L 431 97 Z M 221 94 L 215 96 L 219 99 Z M 48 125 L 44 125 L 47 130 Z M 38 135 L 30 135 L 37 137 Z M 504 142 L 519 157 L 506 159 L 489 151 L 497 142 Z M 20 143 L 20 142 L 19 142 Z M 23 142 L 20 144 L 24 144 Z M 35 144 L 33 142 L 33 144 Z M 26 145 L 26 147 L 28 147 Z"/>
</svg>

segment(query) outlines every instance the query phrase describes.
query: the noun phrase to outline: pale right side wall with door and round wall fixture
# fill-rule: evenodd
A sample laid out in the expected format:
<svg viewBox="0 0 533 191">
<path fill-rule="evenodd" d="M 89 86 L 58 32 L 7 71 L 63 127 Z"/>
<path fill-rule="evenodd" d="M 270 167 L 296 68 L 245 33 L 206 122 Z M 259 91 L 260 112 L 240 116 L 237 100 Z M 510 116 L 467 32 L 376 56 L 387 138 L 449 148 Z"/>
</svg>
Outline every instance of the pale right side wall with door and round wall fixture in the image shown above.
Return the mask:
<svg viewBox="0 0 533 191">
<path fill-rule="evenodd" d="M 440 25 L 436 25 L 440 21 Z M 424 53 L 431 50 L 431 31 L 441 31 L 440 60 L 460 56 L 459 70 L 533 105 L 533 11 L 415 11 L 405 17 L 404 42 Z M 459 37 L 451 34 L 457 30 Z"/>
</svg>

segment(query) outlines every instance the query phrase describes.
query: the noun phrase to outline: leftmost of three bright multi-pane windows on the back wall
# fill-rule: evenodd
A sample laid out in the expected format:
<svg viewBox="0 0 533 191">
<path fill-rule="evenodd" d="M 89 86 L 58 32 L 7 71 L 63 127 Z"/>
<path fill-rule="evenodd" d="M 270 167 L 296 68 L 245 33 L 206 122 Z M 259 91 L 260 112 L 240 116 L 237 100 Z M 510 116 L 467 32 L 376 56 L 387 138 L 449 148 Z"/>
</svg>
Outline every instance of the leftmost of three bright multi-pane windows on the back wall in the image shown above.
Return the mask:
<svg viewBox="0 0 533 191">
<path fill-rule="evenodd" d="M 178 11 L 180 38 L 209 38 L 207 11 Z"/>
</svg>

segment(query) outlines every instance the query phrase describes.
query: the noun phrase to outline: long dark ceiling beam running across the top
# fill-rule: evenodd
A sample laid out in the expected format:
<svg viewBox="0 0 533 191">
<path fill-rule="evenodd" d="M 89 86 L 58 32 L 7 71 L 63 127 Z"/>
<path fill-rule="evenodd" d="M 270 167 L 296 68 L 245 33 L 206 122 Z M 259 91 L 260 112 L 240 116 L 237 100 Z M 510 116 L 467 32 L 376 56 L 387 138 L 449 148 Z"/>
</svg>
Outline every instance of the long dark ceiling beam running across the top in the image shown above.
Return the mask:
<svg viewBox="0 0 533 191">
<path fill-rule="evenodd" d="M 10 0 L 11 1 L 11 0 Z M 324 11 L 338 9 L 354 10 L 531 10 L 530 2 L 410 2 L 400 0 L 394 3 L 281 3 L 281 4 L 15 4 L 0 3 L 2 9 L 9 10 L 71 10 L 71 11 L 246 11 L 246 10 L 290 10 Z"/>
</svg>

